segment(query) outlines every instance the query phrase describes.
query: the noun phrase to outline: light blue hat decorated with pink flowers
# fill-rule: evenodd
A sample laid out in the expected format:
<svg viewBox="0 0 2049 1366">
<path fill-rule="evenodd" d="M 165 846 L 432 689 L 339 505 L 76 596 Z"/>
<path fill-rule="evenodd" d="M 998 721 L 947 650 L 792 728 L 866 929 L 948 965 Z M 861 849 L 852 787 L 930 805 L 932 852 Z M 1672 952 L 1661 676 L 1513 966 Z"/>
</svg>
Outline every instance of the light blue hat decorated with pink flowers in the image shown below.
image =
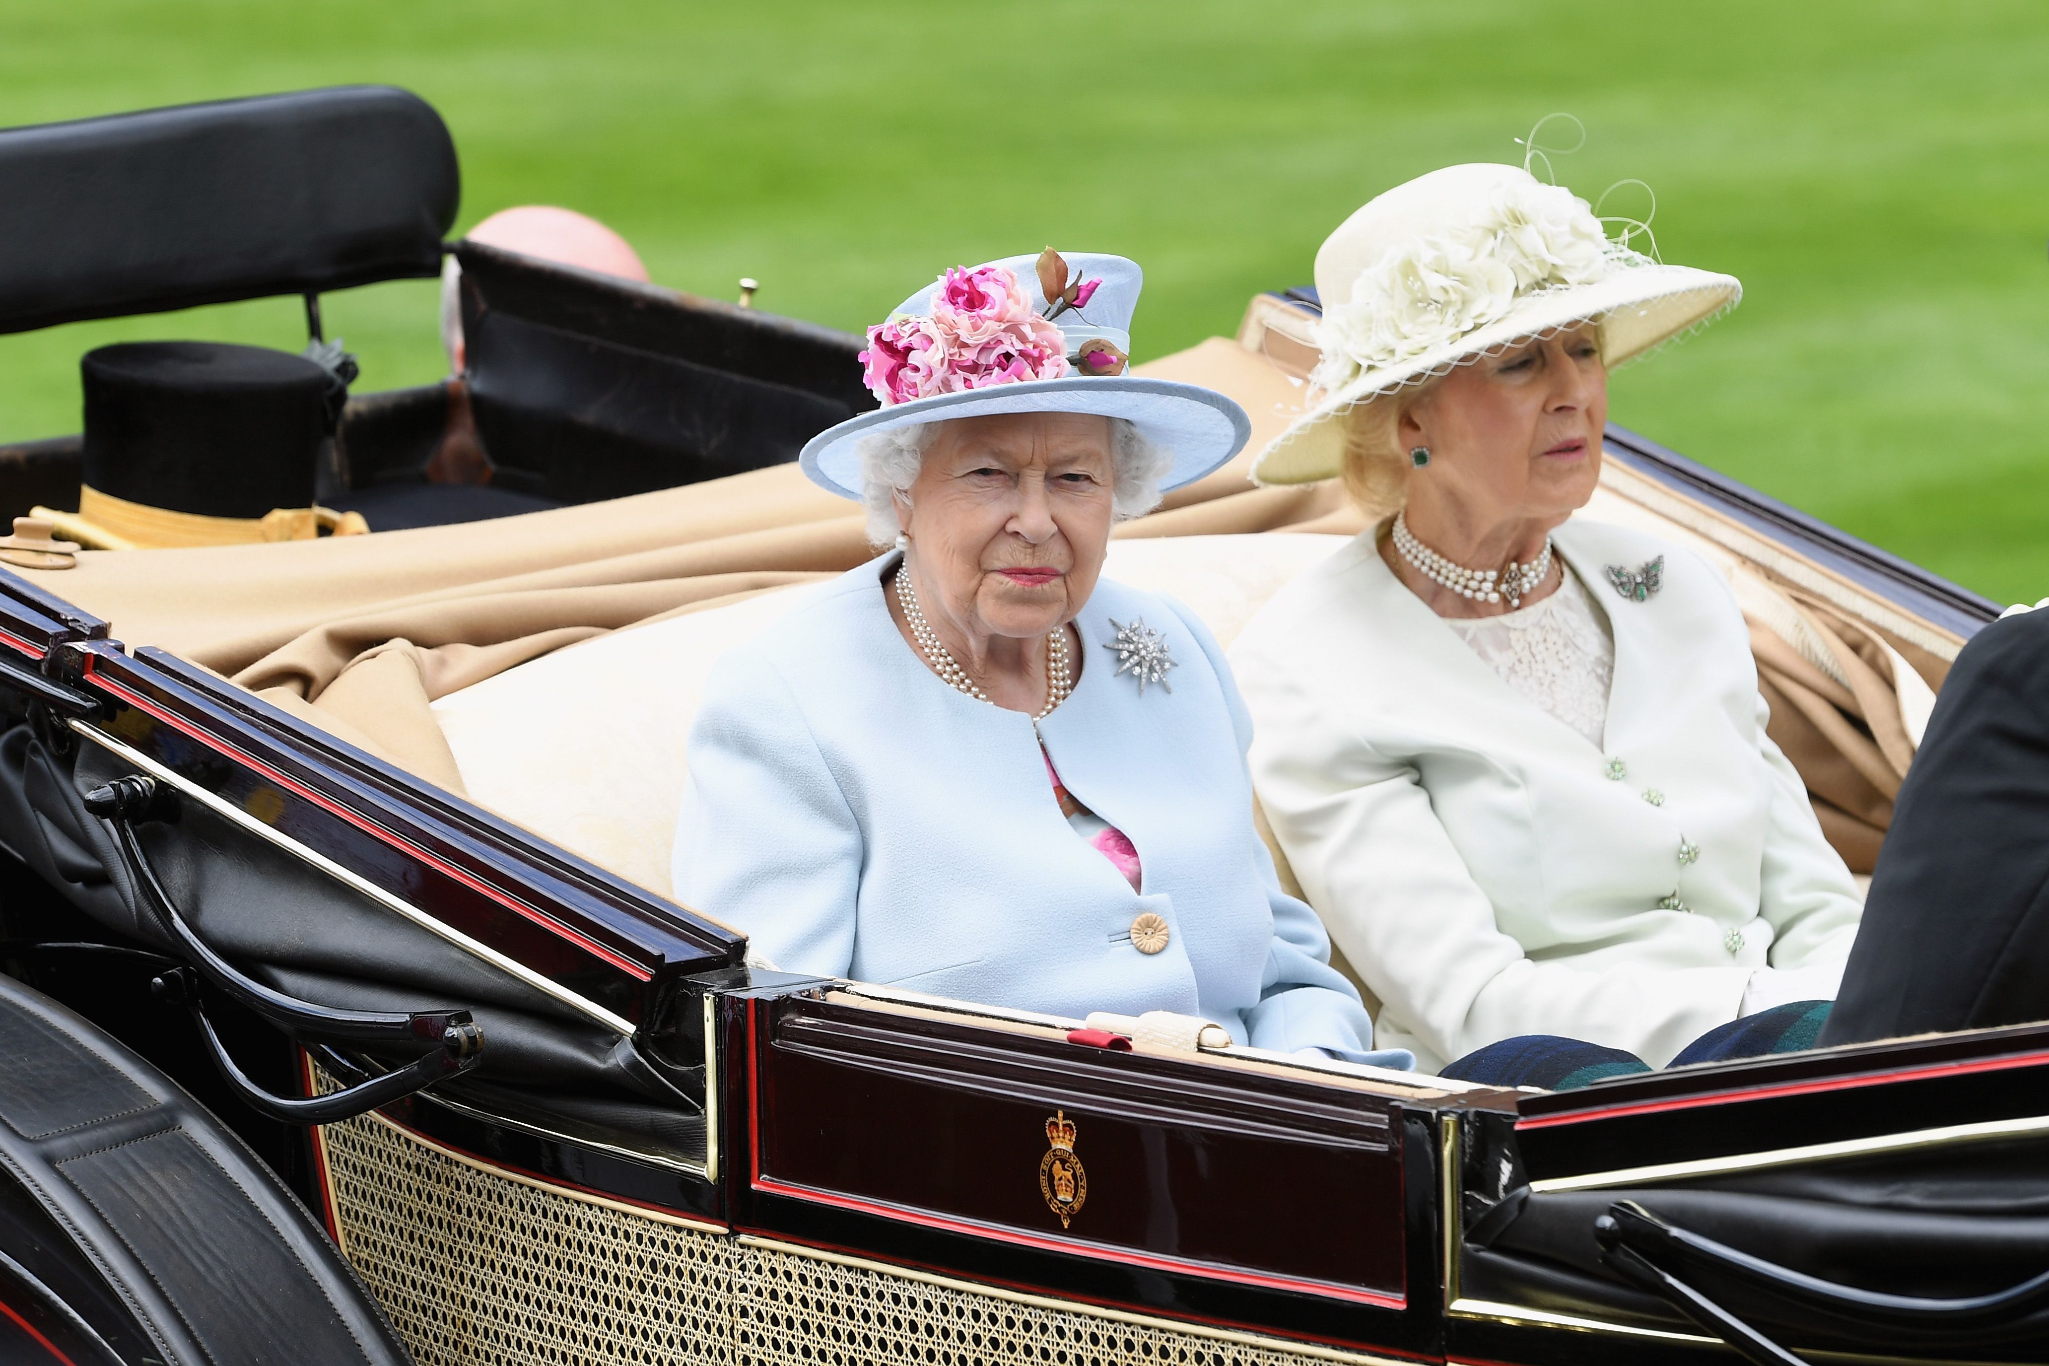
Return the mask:
<svg viewBox="0 0 2049 1366">
<path fill-rule="evenodd" d="M 943 272 L 869 328 L 861 365 L 881 408 L 813 436 L 797 457 L 803 473 L 861 498 L 863 436 L 951 418 L 1076 412 L 1125 418 L 1172 451 L 1162 489 L 1201 479 L 1238 455 L 1252 422 L 1213 389 L 1127 373 L 1143 283 L 1135 260 L 1053 248 Z"/>
</svg>

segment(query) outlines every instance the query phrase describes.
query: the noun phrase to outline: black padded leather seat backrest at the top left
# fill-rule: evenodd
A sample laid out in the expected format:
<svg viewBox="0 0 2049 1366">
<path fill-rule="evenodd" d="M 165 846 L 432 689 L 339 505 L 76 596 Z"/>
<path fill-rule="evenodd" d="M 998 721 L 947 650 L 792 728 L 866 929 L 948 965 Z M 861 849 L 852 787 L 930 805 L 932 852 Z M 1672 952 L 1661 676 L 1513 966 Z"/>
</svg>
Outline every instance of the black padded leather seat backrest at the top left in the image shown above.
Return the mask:
<svg viewBox="0 0 2049 1366">
<path fill-rule="evenodd" d="M 0 131 L 0 332 L 441 272 L 426 100 L 336 86 Z"/>
</svg>

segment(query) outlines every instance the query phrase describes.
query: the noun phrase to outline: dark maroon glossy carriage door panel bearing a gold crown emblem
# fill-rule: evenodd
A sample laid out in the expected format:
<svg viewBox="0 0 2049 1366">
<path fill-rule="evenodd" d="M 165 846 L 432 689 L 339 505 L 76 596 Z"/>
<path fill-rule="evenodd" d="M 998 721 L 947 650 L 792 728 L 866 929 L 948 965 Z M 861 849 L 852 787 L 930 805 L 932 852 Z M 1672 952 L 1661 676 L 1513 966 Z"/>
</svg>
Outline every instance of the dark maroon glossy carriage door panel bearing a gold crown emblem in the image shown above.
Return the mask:
<svg viewBox="0 0 2049 1366">
<path fill-rule="evenodd" d="M 1393 1100 L 1057 1038 L 785 999 L 752 1008 L 752 1186 L 1084 1257 L 1406 1300 Z M 1076 1124 L 1086 1198 L 1039 1176 Z"/>
</svg>

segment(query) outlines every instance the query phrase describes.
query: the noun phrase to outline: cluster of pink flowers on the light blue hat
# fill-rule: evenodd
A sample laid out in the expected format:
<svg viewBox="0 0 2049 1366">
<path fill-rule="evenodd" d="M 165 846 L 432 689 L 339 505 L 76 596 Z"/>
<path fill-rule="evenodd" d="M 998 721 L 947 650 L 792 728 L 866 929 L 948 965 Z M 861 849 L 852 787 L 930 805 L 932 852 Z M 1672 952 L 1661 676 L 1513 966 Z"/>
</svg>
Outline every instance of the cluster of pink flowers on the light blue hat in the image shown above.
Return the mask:
<svg viewBox="0 0 2049 1366">
<path fill-rule="evenodd" d="M 932 315 L 869 328 L 861 362 L 885 408 L 1070 373 L 1059 328 L 1033 311 L 1018 276 L 1002 266 L 947 270 Z"/>
</svg>

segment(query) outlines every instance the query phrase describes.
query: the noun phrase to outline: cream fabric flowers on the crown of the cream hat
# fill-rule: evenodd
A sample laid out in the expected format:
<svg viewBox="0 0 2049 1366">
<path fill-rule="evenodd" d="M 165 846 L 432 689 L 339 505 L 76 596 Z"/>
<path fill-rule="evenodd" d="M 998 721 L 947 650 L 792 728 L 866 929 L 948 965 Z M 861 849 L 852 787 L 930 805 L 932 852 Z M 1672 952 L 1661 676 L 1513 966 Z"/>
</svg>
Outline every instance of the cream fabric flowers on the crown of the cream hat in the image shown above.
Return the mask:
<svg viewBox="0 0 2049 1366">
<path fill-rule="evenodd" d="M 1326 303 L 1311 375 L 1336 391 L 1365 371 L 1447 346 L 1504 317 L 1522 295 L 1588 285 L 1619 248 L 1584 199 L 1557 184 L 1500 184 L 1463 231 L 1397 244 L 1358 272 L 1350 303 Z"/>
</svg>

